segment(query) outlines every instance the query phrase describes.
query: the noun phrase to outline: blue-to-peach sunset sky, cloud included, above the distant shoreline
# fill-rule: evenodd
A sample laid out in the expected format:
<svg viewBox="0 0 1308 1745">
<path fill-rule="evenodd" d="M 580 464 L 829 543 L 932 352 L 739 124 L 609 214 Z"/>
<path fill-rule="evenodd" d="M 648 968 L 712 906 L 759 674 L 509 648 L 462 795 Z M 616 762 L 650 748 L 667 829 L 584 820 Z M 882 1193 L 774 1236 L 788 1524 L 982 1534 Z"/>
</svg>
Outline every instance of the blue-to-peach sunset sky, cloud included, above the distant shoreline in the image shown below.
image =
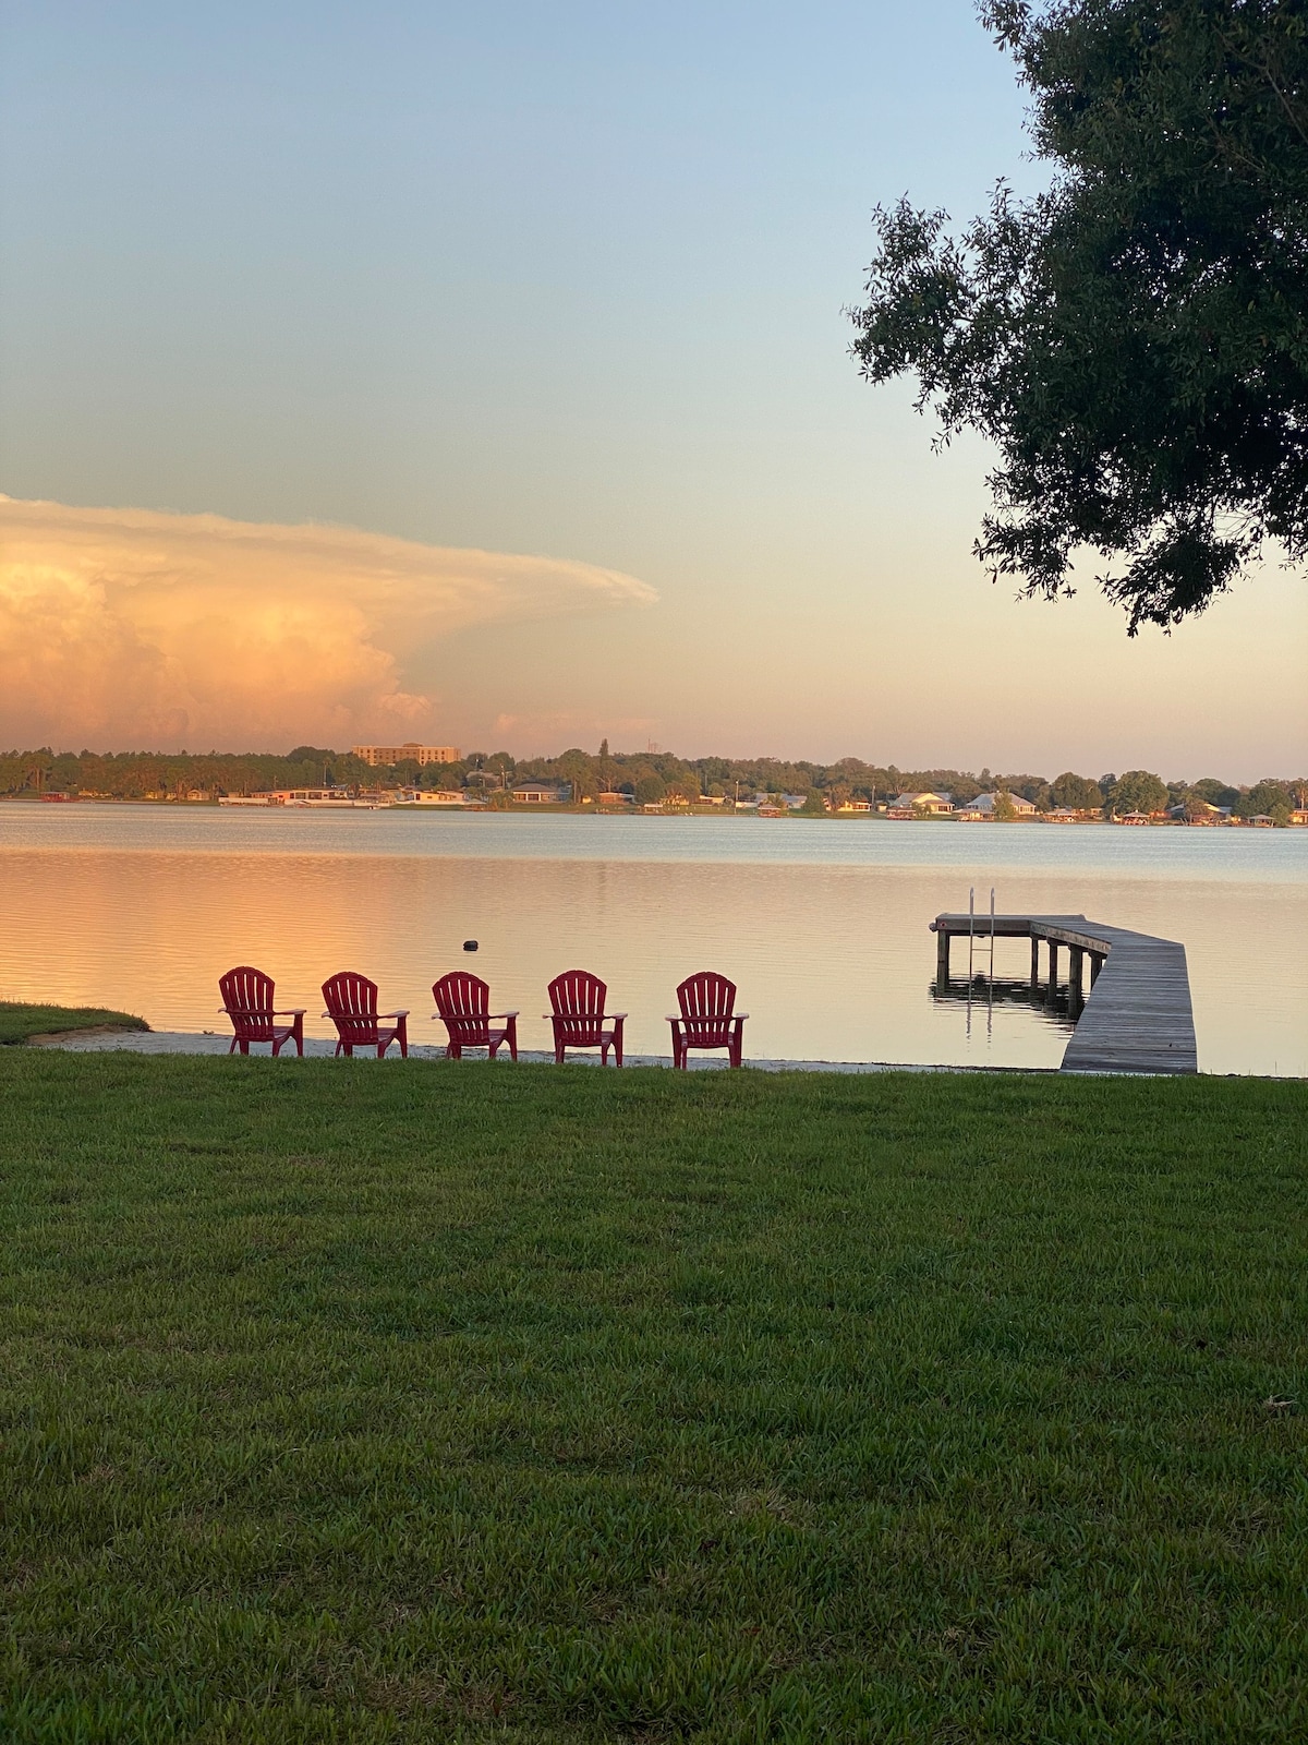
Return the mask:
<svg viewBox="0 0 1308 1745">
<path fill-rule="evenodd" d="M 870 211 L 1032 190 L 970 0 L 0 0 L 0 743 L 1308 768 L 1308 585 L 971 557 Z"/>
</svg>

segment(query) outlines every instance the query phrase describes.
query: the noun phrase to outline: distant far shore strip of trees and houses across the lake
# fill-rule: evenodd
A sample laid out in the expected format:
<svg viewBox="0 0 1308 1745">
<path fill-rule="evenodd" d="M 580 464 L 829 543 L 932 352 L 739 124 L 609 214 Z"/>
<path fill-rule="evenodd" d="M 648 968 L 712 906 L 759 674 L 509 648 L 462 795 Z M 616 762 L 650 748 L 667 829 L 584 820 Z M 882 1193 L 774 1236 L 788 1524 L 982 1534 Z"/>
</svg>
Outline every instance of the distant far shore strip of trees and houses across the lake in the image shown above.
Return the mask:
<svg viewBox="0 0 1308 1745">
<path fill-rule="evenodd" d="M 1230 806 L 1238 817 L 1268 815 L 1282 820 L 1308 804 L 1308 777 L 1268 777 L 1238 787 L 1217 777 L 1198 782 L 1163 782 L 1149 770 L 1085 777 L 1066 770 L 1043 775 L 982 770 L 900 770 L 841 757 L 834 764 L 783 763 L 776 757 L 675 757 L 671 752 L 610 752 L 579 749 L 558 757 L 514 759 L 509 752 L 471 752 L 462 763 L 405 761 L 371 768 L 349 752 L 296 745 L 284 757 L 269 752 L 31 752 L 0 754 L 0 794 L 80 794 L 105 799 L 216 799 L 279 787 L 478 787 L 495 799 L 514 782 L 567 782 L 572 799 L 603 792 L 630 794 L 638 804 L 703 797 L 753 799 L 755 794 L 804 794 L 809 811 L 835 811 L 846 801 L 884 803 L 903 792 L 931 789 L 956 804 L 982 792 L 1008 792 L 1041 811 L 1073 806 L 1078 811 L 1162 811 L 1167 806 Z"/>
</svg>

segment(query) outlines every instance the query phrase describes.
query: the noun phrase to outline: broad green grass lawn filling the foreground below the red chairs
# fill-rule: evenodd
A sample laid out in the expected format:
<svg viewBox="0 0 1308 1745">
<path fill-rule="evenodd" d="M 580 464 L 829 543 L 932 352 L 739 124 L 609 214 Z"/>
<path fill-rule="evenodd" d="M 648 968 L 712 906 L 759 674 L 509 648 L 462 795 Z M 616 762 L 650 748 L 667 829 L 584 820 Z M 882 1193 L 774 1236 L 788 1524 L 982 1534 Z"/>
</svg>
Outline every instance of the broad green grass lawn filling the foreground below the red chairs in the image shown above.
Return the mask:
<svg viewBox="0 0 1308 1745">
<path fill-rule="evenodd" d="M 5 1050 L 0 1736 L 1305 1738 L 1306 1134 Z"/>
</svg>

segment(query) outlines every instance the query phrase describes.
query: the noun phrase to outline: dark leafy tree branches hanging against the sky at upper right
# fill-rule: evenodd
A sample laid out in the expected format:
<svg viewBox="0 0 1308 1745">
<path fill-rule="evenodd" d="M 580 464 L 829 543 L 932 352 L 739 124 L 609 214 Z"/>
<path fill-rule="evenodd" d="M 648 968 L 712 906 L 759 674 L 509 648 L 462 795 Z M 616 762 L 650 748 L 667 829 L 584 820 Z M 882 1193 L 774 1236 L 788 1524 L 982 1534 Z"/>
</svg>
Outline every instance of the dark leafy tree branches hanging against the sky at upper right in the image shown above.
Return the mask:
<svg viewBox="0 0 1308 1745">
<path fill-rule="evenodd" d="M 961 237 L 879 209 L 855 354 L 999 448 L 977 555 L 1031 595 L 1078 548 L 1141 623 L 1268 541 L 1308 555 L 1305 0 L 985 0 L 1050 188 Z"/>
</svg>

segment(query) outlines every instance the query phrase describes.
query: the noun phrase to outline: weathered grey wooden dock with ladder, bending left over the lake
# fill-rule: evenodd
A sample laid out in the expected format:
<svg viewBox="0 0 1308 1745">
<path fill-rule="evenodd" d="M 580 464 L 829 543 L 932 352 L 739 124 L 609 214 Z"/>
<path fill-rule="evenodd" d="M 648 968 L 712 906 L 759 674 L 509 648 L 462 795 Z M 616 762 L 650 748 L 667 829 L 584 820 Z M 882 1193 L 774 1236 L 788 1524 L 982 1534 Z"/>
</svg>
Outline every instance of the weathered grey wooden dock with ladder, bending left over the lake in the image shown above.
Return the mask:
<svg viewBox="0 0 1308 1745">
<path fill-rule="evenodd" d="M 954 939 L 991 937 L 989 914 L 938 914 L 937 984 L 949 984 Z M 1059 988 L 1059 955 L 1067 953 L 1067 1009 L 1076 1030 L 1062 1056 L 1064 1073 L 1196 1073 L 1195 1012 L 1186 948 L 1174 939 L 1087 921 L 1083 914 L 996 914 L 996 939 L 1031 941 L 1031 991 L 1038 993 L 1039 948 L 1048 958 L 1046 998 Z M 1085 961 L 1090 960 L 1090 991 Z"/>
</svg>

